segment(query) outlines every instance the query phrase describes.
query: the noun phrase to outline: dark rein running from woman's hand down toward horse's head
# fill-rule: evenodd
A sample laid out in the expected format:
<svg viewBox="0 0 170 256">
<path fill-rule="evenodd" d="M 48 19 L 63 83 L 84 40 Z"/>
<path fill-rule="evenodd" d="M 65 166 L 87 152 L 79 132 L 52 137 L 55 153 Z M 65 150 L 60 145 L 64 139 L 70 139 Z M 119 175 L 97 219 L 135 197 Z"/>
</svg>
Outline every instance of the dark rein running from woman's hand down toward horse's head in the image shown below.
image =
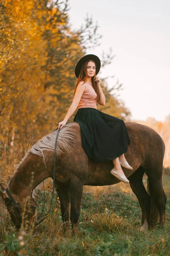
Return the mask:
<svg viewBox="0 0 170 256">
<path fill-rule="evenodd" d="M 53 187 L 51 189 L 53 189 L 52 191 L 52 196 L 51 196 L 51 203 L 50 203 L 50 209 L 48 210 L 47 214 L 40 219 L 40 221 L 36 222 L 35 226 L 39 225 L 43 220 L 45 220 L 45 218 L 48 216 L 50 210 L 51 210 L 51 206 L 52 206 L 52 202 L 53 202 L 53 197 L 54 197 L 54 189 L 55 188 L 55 174 L 56 174 L 56 151 L 57 151 L 57 139 L 58 139 L 58 136 L 59 136 L 59 131 L 60 131 L 60 127 L 57 131 L 57 136 L 56 136 L 56 140 L 55 140 L 55 146 L 54 146 L 54 167 L 53 167 Z M 42 215 L 42 214 L 41 214 Z M 41 216 L 40 215 L 40 216 Z M 40 218 L 39 216 L 39 218 Z"/>
</svg>

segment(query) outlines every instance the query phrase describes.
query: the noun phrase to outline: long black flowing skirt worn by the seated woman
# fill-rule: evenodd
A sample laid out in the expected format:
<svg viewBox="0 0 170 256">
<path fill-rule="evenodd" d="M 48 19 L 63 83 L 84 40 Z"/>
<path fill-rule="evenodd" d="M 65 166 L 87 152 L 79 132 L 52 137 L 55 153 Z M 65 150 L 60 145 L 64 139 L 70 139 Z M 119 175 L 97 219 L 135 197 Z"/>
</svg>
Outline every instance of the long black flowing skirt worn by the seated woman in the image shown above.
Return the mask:
<svg viewBox="0 0 170 256">
<path fill-rule="evenodd" d="M 130 137 L 125 122 L 96 108 L 79 108 L 74 121 L 79 123 L 82 147 L 94 162 L 105 162 L 127 151 Z"/>
</svg>

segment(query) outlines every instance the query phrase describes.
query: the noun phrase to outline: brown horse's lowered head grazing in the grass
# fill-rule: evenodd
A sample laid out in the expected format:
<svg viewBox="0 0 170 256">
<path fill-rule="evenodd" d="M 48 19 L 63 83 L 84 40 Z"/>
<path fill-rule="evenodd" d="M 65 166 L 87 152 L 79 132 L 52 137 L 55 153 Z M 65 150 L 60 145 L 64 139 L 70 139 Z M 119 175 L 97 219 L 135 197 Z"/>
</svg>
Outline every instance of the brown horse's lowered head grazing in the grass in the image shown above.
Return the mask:
<svg viewBox="0 0 170 256">
<path fill-rule="evenodd" d="M 25 202 L 14 193 L 11 193 L 5 184 L 0 183 L 0 187 L 3 189 L 3 192 L 0 191 L 1 215 L 4 215 L 4 208 L 6 207 L 17 229 L 21 227 L 22 220 L 24 222 L 27 221 L 28 227 L 32 227 L 36 218 L 35 210 L 37 208 L 34 198 L 31 198 L 30 202 L 25 206 Z"/>
</svg>

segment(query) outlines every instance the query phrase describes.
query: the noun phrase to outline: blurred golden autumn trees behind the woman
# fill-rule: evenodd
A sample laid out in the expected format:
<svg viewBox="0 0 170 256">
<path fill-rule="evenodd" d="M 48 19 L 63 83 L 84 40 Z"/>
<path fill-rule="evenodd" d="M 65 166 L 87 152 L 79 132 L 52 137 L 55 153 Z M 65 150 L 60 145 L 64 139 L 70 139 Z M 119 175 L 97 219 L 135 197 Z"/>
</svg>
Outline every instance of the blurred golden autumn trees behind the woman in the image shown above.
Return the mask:
<svg viewBox="0 0 170 256">
<path fill-rule="evenodd" d="M 99 44 L 98 26 L 88 16 L 80 29 L 71 30 L 68 8 L 68 1 L 59 0 L 0 3 L 0 142 L 5 148 L 11 141 L 33 143 L 35 135 L 57 127 L 74 96 L 77 61 Z M 102 65 L 112 57 L 103 56 Z M 102 88 L 107 104 L 99 108 L 127 116 L 105 79 Z"/>
</svg>

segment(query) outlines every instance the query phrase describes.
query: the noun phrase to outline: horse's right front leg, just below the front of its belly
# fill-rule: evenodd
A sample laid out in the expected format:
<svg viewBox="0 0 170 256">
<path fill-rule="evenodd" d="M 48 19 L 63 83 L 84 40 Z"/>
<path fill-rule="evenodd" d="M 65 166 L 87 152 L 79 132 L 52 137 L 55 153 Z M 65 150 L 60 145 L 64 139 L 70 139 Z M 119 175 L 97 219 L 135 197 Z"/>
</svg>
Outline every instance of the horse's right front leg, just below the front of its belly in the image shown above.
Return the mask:
<svg viewBox="0 0 170 256">
<path fill-rule="evenodd" d="M 70 188 L 70 195 L 71 195 L 72 233 L 77 234 L 83 184 L 80 182 L 80 180 L 74 180 L 74 182 L 70 183 L 69 188 Z"/>
</svg>

